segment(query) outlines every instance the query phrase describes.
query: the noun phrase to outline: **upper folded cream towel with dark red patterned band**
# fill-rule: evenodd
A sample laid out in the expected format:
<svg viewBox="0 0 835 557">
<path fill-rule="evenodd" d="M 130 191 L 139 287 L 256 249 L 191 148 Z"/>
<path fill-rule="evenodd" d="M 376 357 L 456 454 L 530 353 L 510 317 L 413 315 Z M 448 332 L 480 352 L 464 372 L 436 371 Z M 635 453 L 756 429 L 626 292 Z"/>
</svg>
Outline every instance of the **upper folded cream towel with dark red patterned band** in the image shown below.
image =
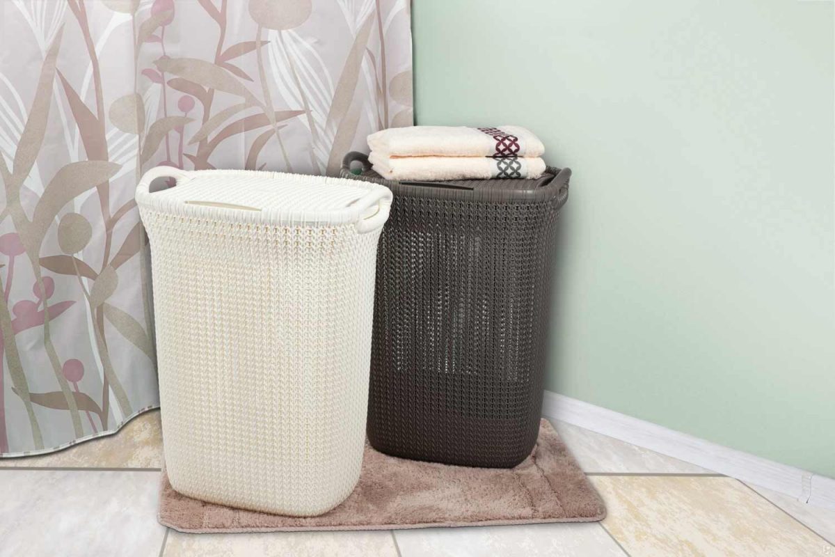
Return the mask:
<svg viewBox="0 0 835 557">
<path fill-rule="evenodd" d="M 389 128 L 369 135 L 368 147 L 391 157 L 539 157 L 545 152 L 539 138 L 519 126 Z"/>
</svg>

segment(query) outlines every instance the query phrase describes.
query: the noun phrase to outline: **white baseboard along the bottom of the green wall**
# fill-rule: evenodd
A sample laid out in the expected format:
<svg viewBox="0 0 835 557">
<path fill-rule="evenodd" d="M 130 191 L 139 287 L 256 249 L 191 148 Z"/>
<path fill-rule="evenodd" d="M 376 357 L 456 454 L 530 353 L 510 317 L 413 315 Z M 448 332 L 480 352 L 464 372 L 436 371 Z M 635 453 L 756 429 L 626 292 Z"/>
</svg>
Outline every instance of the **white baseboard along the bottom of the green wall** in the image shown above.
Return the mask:
<svg viewBox="0 0 835 557">
<path fill-rule="evenodd" d="M 556 392 L 545 391 L 542 413 L 748 484 L 791 495 L 809 504 L 835 509 L 835 479 L 743 453 Z"/>
</svg>

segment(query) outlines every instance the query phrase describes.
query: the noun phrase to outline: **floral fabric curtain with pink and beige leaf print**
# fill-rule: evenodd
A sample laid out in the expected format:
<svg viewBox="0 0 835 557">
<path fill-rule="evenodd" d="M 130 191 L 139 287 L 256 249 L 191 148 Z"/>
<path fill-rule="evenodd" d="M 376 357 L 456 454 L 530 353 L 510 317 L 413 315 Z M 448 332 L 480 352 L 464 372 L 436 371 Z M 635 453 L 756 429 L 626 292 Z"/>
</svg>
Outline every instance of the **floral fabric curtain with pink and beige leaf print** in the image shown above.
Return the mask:
<svg viewBox="0 0 835 557">
<path fill-rule="evenodd" d="M 143 170 L 336 174 L 412 124 L 408 0 L 0 3 L 0 453 L 159 404 Z"/>
</svg>

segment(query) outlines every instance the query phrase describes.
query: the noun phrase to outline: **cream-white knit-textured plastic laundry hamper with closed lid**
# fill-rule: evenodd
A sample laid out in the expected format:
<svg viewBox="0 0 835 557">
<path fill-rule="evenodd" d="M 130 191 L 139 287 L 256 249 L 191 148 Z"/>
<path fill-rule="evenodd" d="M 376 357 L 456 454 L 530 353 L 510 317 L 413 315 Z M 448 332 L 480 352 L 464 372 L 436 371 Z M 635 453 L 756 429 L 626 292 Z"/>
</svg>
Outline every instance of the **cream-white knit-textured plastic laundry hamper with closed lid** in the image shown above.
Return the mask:
<svg viewBox="0 0 835 557">
<path fill-rule="evenodd" d="M 149 192 L 169 176 L 175 187 Z M 377 240 L 392 193 L 354 180 L 149 170 L 166 470 L 182 494 L 311 516 L 365 443 Z"/>
</svg>

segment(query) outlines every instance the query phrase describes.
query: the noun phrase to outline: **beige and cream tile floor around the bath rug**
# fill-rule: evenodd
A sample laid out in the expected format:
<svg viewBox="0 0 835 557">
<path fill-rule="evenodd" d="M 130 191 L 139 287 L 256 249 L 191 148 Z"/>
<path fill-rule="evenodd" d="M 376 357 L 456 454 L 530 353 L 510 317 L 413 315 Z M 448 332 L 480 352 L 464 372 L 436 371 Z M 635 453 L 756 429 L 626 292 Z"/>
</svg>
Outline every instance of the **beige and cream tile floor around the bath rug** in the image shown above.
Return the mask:
<svg viewBox="0 0 835 557">
<path fill-rule="evenodd" d="M 180 534 L 156 521 L 163 459 L 154 411 L 108 438 L 0 460 L 0 556 L 835 555 L 835 511 L 554 425 L 606 501 L 609 516 L 600 524 Z"/>
</svg>

